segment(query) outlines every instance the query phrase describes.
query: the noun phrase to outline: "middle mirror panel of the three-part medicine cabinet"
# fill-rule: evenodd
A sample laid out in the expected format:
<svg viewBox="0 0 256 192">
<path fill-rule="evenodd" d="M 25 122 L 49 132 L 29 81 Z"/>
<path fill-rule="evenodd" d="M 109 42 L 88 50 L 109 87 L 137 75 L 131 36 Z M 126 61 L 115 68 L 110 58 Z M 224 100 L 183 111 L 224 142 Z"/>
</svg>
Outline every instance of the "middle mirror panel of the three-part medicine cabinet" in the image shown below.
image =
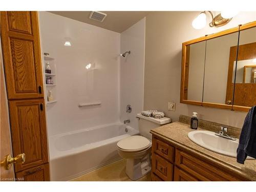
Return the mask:
<svg viewBox="0 0 256 192">
<path fill-rule="evenodd" d="M 203 90 L 205 106 L 218 103 L 225 109 L 232 107 L 233 87 L 229 82 L 232 80 L 232 73 L 228 76 L 228 70 L 236 69 L 236 62 L 233 66 L 233 60 L 237 59 L 238 35 L 239 32 L 234 32 L 206 40 Z M 230 58 L 230 52 L 234 53 L 232 58 Z"/>
</svg>

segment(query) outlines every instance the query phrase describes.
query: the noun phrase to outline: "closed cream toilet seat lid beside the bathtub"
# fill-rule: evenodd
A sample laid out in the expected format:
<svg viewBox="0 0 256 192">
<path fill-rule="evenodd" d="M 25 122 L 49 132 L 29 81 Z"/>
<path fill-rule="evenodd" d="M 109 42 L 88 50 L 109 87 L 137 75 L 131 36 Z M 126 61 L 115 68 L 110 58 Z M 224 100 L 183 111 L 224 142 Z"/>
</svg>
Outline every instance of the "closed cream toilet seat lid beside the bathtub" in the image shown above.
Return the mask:
<svg viewBox="0 0 256 192">
<path fill-rule="evenodd" d="M 124 152 L 138 152 L 151 147 L 151 141 L 139 135 L 124 138 L 118 141 L 117 146 Z"/>
</svg>

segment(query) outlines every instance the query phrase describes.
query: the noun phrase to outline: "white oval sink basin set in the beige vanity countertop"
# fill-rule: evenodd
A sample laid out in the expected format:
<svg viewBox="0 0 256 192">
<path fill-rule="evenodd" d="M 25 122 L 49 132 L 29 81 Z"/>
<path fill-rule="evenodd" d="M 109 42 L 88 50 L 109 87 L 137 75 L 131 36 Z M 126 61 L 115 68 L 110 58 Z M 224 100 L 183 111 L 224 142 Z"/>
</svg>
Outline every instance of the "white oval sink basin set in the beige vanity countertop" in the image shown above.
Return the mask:
<svg viewBox="0 0 256 192">
<path fill-rule="evenodd" d="M 201 147 L 207 148 L 212 152 L 216 152 L 229 157 L 237 157 L 237 148 L 239 139 L 232 141 L 215 135 L 210 131 L 191 131 L 188 133 L 188 138 Z M 253 159 L 247 157 L 247 159 Z"/>
</svg>

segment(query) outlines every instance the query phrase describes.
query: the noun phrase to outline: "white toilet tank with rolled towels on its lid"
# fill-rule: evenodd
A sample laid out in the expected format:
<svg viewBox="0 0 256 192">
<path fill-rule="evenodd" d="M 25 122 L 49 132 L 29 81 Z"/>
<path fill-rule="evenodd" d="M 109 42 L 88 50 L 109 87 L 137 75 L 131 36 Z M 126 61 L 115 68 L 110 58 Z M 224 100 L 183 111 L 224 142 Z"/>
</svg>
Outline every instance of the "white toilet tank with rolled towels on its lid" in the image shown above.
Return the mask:
<svg viewBox="0 0 256 192">
<path fill-rule="evenodd" d="M 168 118 L 168 117 L 163 117 L 161 119 L 155 119 L 153 117 L 146 117 L 141 114 L 137 114 L 136 117 L 138 117 L 138 119 L 139 119 L 140 135 L 143 137 L 146 137 L 150 140 L 152 140 L 152 134 L 150 133 L 150 130 L 171 122 L 170 118 Z"/>
</svg>

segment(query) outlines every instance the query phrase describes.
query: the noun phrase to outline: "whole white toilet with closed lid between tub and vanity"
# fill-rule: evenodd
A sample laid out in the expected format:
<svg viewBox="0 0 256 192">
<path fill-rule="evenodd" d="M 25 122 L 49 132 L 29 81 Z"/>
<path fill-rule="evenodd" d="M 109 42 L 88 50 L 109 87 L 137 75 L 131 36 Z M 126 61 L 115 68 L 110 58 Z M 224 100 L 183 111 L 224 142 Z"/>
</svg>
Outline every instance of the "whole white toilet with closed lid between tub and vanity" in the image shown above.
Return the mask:
<svg viewBox="0 0 256 192">
<path fill-rule="evenodd" d="M 151 172 L 151 129 L 169 123 L 170 118 L 155 119 L 141 114 L 139 119 L 140 135 L 126 137 L 117 143 L 118 154 L 126 159 L 126 175 L 133 181 Z"/>
</svg>

